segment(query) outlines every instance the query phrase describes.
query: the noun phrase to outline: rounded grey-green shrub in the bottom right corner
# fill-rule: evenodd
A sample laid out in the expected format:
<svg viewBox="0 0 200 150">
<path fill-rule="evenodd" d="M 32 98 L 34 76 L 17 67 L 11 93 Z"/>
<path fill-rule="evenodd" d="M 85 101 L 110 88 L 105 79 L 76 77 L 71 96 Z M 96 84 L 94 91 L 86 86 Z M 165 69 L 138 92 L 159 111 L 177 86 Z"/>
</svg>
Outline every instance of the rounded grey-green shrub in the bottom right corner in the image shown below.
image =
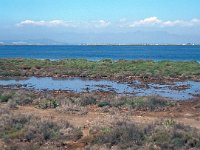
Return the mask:
<svg viewBox="0 0 200 150">
<path fill-rule="evenodd" d="M 146 140 L 161 149 L 200 148 L 199 132 L 189 126 L 167 120 L 147 129 Z"/>
</svg>

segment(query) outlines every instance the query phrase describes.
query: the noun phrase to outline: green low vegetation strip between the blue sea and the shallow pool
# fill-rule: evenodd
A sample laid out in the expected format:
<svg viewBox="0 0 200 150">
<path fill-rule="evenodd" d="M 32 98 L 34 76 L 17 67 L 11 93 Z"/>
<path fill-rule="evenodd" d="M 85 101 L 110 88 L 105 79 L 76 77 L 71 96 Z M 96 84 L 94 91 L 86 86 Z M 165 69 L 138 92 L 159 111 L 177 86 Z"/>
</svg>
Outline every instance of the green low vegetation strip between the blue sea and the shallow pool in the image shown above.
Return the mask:
<svg viewBox="0 0 200 150">
<path fill-rule="evenodd" d="M 0 76 L 52 76 L 124 79 L 182 78 L 199 79 L 200 64 L 195 61 L 128 61 L 110 59 L 89 61 L 66 59 L 59 61 L 34 59 L 0 59 Z"/>
</svg>

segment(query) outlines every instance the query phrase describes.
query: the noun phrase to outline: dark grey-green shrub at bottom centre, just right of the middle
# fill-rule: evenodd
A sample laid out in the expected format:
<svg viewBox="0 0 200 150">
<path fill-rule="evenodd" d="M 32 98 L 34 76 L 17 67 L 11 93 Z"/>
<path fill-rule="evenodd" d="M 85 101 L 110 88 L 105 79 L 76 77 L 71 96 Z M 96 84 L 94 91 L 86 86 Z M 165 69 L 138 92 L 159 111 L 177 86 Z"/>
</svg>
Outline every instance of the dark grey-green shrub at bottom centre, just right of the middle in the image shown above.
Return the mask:
<svg viewBox="0 0 200 150">
<path fill-rule="evenodd" d="M 118 122 L 113 129 L 102 131 L 104 130 L 100 130 L 100 133 L 93 138 L 92 144 L 109 144 L 109 148 L 118 145 L 121 149 L 126 149 L 144 143 L 143 131 L 134 124 Z"/>
</svg>

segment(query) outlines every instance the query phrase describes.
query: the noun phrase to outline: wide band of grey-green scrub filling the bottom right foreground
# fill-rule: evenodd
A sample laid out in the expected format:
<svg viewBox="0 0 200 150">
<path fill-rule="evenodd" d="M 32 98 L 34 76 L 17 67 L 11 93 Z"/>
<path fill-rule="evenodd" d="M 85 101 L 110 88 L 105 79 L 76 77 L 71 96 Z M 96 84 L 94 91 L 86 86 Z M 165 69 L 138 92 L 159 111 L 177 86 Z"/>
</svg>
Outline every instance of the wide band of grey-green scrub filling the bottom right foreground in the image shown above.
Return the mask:
<svg viewBox="0 0 200 150">
<path fill-rule="evenodd" d="M 105 144 L 108 149 L 199 149 L 200 134 L 191 127 L 163 120 L 139 127 L 133 123 L 116 122 L 112 128 L 94 128 L 92 145 Z M 98 147 L 97 146 L 97 147 Z M 145 148 L 146 147 L 146 148 Z"/>
</svg>

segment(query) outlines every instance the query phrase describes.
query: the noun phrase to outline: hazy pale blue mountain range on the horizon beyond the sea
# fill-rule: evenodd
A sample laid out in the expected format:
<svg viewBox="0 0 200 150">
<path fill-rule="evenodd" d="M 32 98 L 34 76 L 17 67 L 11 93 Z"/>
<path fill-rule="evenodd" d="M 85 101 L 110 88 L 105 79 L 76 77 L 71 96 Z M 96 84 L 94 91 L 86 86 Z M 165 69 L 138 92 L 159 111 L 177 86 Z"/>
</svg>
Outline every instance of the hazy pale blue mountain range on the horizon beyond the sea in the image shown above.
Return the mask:
<svg viewBox="0 0 200 150">
<path fill-rule="evenodd" d="M 51 39 L 48 37 L 51 37 Z M 0 45 L 193 45 L 193 43 L 199 44 L 200 41 L 200 35 L 179 35 L 165 31 L 132 31 L 109 34 L 104 32 L 63 32 L 48 33 L 44 38 L 40 38 L 40 35 L 35 35 L 32 38 L 34 39 L 31 39 L 31 37 L 20 38 L 16 36 L 12 40 L 0 40 Z"/>
</svg>

